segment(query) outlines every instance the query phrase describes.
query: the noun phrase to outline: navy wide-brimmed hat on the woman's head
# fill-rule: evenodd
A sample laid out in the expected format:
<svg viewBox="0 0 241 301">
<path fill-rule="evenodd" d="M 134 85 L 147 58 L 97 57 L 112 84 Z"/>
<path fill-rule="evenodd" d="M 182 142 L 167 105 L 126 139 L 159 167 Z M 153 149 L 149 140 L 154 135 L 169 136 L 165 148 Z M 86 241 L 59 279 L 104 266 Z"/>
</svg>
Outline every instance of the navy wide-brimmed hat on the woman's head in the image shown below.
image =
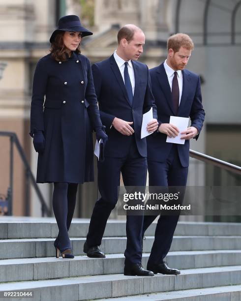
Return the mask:
<svg viewBox="0 0 241 301">
<path fill-rule="evenodd" d="M 56 34 L 60 31 L 81 31 L 82 36 L 93 34 L 93 32 L 84 28 L 81 25 L 80 18 L 75 15 L 69 15 L 69 16 L 64 16 L 64 17 L 60 18 L 60 20 L 58 22 L 57 30 L 55 30 L 52 33 L 52 35 L 49 39 L 50 43 L 52 43 L 55 40 Z"/>
</svg>

